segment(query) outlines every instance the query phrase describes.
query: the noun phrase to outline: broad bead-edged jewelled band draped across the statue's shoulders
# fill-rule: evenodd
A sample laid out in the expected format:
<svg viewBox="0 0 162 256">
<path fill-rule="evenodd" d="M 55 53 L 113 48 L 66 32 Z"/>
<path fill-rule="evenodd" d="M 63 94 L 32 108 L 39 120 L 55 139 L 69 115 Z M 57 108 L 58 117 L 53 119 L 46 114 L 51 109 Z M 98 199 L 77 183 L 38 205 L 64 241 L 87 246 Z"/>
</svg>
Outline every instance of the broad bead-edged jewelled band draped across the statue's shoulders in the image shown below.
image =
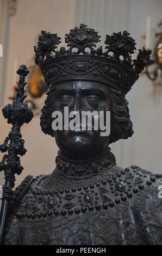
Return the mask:
<svg viewBox="0 0 162 256">
<path fill-rule="evenodd" d="M 37 183 L 43 177 L 40 176 Z M 131 166 L 89 186 L 34 191 L 34 194 L 26 197 L 22 209 L 15 215 L 17 218 L 35 219 L 114 208 L 120 203 L 126 203 L 145 187 L 151 186 L 156 178 L 161 178 L 161 175 L 150 174 Z"/>
</svg>

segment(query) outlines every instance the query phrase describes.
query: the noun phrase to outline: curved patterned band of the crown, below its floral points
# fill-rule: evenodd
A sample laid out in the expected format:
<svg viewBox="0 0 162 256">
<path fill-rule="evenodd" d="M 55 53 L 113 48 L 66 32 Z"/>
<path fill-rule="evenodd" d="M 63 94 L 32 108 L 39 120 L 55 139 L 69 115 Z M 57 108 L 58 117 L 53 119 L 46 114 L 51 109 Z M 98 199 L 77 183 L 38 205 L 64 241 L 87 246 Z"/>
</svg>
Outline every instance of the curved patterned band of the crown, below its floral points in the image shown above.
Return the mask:
<svg viewBox="0 0 162 256">
<path fill-rule="evenodd" d="M 41 71 L 48 87 L 61 81 L 92 80 L 108 83 L 126 94 L 135 82 L 135 74 L 127 66 L 121 66 L 116 60 L 97 56 L 54 58 L 44 63 Z"/>
</svg>

